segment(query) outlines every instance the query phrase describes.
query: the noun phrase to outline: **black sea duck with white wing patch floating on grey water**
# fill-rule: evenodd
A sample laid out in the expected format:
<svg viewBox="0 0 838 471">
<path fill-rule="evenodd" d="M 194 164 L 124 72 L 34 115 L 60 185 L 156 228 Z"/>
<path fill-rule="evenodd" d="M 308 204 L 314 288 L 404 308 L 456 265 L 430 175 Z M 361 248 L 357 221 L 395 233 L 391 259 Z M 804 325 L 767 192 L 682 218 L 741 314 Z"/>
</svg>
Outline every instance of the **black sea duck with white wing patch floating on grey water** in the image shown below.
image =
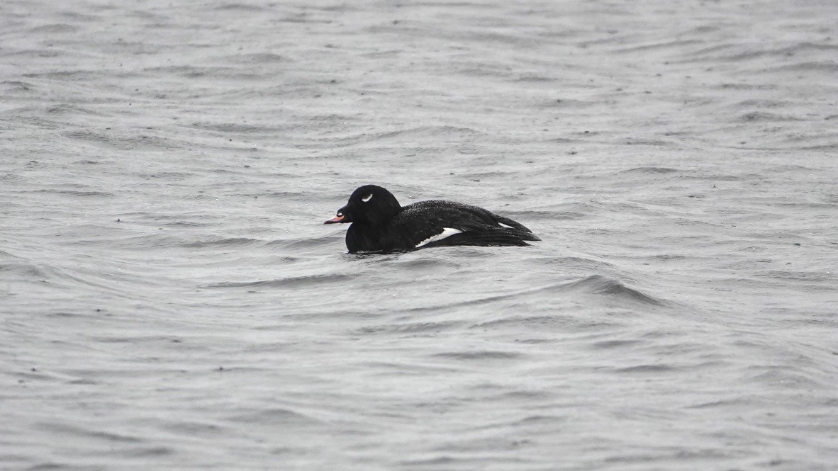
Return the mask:
<svg viewBox="0 0 838 471">
<path fill-rule="evenodd" d="M 402 207 L 391 192 L 375 185 L 355 190 L 347 205 L 325 223 L 351 223 L 346 232 L 349 253 L 529 245 L 526 241 L 541 240 L 524 225 L 482 207 L 441 200 Z"/>
</svg>

